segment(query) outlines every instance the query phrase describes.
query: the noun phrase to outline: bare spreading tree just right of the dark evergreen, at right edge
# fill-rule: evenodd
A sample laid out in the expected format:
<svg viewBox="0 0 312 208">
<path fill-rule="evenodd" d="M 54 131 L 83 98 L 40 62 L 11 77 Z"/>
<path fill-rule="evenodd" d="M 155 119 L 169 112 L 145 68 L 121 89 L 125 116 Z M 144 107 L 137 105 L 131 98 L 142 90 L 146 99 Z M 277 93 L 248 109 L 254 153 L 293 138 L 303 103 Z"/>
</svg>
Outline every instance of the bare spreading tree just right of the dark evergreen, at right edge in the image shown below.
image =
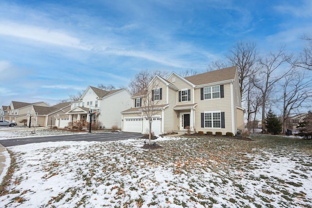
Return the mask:
<svg viewBox="0 0 312 208">
<path fill-rule="evenodd" d="M 312 101 L 311 83 L 305 77 L 305 73 L 293 69 L 281 83 L 283 87 L 283 133 L 287 128 L 290 115 L 303 107 L 305 102 Z"/>
</svg>

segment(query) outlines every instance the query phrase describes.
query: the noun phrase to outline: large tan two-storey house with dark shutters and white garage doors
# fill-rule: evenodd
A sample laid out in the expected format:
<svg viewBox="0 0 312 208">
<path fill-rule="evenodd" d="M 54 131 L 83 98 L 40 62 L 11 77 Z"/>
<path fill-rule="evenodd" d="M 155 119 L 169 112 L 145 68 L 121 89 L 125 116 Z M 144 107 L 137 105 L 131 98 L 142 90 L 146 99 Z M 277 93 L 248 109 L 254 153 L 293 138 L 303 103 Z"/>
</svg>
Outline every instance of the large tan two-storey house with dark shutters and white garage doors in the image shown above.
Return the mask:
<svg viewBox="0 0 312 208">
<path fill-rule="evenodd" d="M 188 128 L 192 132 L 236 134 L 237 129 L 244 129 L 236 66 L 184 78 L 174 72 L 167 79 L 155 76 L 148 92 L 151 102 L 157 101 L 152 118 L 155 134 Z M 134 107 L 121 112 L 123 131 L 147 132 L 148 119 L 142 112 L 146 96 L 134 95 Z"/>
</svg>

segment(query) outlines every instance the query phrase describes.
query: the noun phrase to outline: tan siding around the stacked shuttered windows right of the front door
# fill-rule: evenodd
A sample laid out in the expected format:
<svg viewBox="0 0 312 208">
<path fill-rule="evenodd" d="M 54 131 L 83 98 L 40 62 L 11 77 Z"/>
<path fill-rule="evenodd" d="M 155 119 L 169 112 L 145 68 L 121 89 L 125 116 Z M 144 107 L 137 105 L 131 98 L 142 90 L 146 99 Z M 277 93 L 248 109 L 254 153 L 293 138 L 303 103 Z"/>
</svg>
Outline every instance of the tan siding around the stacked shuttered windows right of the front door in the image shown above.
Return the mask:
<svg viewBox="0 0 312 208">
<path fill-rule="evenodd" d="M 231 86 L 224 84 L 224 98 L 200 100 L 200 89 L 195 89 L 195 102 L 198 103 L 195 111 L 196 132 L 232 132 L 232 110 L 231 110 Z M 201 128 L 201 114 L 205 111 L 220 111 L 225 115 L 225 129 Z"/>
</svg>

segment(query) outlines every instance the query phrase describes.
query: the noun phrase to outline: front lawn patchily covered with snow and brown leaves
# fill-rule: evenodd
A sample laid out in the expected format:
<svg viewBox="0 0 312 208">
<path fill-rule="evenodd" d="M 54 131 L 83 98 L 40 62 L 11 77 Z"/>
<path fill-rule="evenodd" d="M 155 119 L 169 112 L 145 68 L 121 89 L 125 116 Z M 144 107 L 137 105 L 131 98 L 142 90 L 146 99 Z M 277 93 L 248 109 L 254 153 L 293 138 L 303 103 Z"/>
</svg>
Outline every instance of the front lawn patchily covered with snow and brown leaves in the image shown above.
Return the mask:
<svg viewBox="0 0 312 208">
<path fill-rule="evenodd" d="M 79 136 L 79 135 L 77 135 Z M 312 141 L 257 136 L 10 147 L 0 207 L 312 207 Z"/>
</svg>

